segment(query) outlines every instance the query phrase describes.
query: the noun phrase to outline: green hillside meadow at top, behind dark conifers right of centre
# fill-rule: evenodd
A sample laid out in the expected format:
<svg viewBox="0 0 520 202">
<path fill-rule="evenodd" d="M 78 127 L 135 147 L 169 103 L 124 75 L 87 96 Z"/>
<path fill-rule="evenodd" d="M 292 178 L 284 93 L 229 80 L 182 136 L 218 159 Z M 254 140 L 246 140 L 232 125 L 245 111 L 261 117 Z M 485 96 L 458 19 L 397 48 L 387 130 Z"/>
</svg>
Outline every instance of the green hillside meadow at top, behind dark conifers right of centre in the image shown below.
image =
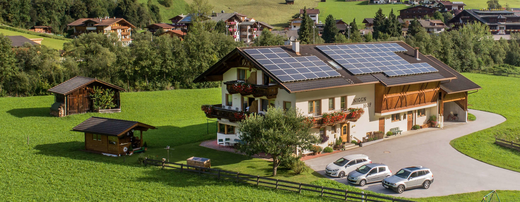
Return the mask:
<svg viewBox="0 0 520 202">
<path fill-rule="evenodd" d="M 375 12 L 379 8 L 383 9 L 383 14 L 388 15 L 392 8 L 396 16 L 399 16 L 397 10 L 407 8 L 403 4 L 384 4 L 384 5 L 368 5 L 368 1 L 365 2 L 345 2 L 341 0 L 329 0 L 327 2 L 318 3 L 320 9 L 320 20 L 324 23 L 325 19 L 329 14 L 334 16 L 335 19 L 343 18 L 346 23 L 352 22 L 356 18 L 356 23 L 362 24 L 361 22 L 365 18 L 373 18 Z"/>
</svg>

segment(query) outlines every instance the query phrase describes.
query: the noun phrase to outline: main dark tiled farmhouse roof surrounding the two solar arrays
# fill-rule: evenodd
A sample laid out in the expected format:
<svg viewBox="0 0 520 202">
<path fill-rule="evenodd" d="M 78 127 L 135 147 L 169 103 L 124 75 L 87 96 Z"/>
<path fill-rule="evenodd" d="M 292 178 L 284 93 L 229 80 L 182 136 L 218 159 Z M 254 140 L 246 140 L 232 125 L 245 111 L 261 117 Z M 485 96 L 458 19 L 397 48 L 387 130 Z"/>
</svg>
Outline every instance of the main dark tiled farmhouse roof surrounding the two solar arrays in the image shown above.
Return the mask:
<svg viewBox="0 0 520 202">
<path fill-rule="evenodd" d="M 266 47 L 240 47 L 233 51 L 231 51 L 226 57 L 219 60 L 216 64 L 214 64 L 210 69 L 205 71 L 199 77 L 197 77 L 194 82 L 203 82 L 206 76 L 213 75 L 222 75 L 224 72 L 228 70 L 226 65 L 223 65 L 227 60 L 235 60 L 237 57 L 244 57 L 245 59 L 251 61 L 253 66 L 262 70 L 266 74 L 268 74 L 271 78 L 277 80 L 277 83 L 281 86 L 281 88 L 287 90 L 288 92 L 298 92 L 298 91 L 307 91 L 307 90 L 316 90 L 323 88 L 335 88 L 335 87 L 343 87 L 343 86 L 351 86 L 351 85 L 361 85 L 361 84 L 371 84 L 371 83 L 381 83 L 385 86 L 394 86 L 394 85 L 405 85 L 405 84 L 413 84 L 413 83 L 425 83 L 425 82 L 434 82 L 439 80 L 449 80 L 455 79 L 457 77 L 463 78 L 464 76 L 446 70 L 443 66 L 440 66 L 439 62 L 433 61 L 430 57 L 426 57 L 419 53 L 419 59 L 417 60 L 414 57 L 414 49 L 407 45 L 404 42 L 379 42 L 379 43 L 397 43 L 401 47 L 404 47 L 407 51 L 404 52 L 396 52 L 396 54 L 402 59 L 408 61 L 409 63 L 423 63 L 426 62 L 433 66 L 433 68 L 437 69 L 438 72 L 432 73 L 423 73 L 423 74 L 414 74 L 414 75 L 406 75 L 406 76 L 395 76 L 395 77 L 387 77 L 382 73 L 373 73 L 373 74 L 361 74 L 361 75 L 353 75 L 350 74 L 345 69 L 335 69 L 335 67 L 329 65 L 328 61 L 333 61 L 329 56 L 325 55 L 321 52 L 317 45 L 300 45 L 300 54 L 296 55 L 296 53 L 292 50 L 292 46 L 271 46 L 271 47 L 280 47 L 285 52 L 289 53 L 292 57 L 301 57 L 301 56 L 316 56 L 321 61 L 327 63 L 331 68 L 341 74 L 339 77 L 329 77 L 329 78 L 318 78 L 318 79 L 307 79 L 307 80 L 299 80 L 294 82 L 285 82 L 282 83 L 280 80 L 277 80 L 276 76 L 270 75 L 269 71 L 264 70 L 263 66 L 257 63 L 256 60 L 251 58 L 248 54 L 246 54 L 243 50 L 245 49 L 255 49 L 255 48 L 266 48 Z M 333 44 L 328 44 L 333 45 Z M 438 61 L 438 60 L 436 60 Z M 442 64 L 442 63 L 441 63 Z M 445 65 L 445 64 L 443 64 Z M 448 67 L 449 68 L 449 67 Z M 452 70 L 449 68 L 449 70 Z"/>
</svg>

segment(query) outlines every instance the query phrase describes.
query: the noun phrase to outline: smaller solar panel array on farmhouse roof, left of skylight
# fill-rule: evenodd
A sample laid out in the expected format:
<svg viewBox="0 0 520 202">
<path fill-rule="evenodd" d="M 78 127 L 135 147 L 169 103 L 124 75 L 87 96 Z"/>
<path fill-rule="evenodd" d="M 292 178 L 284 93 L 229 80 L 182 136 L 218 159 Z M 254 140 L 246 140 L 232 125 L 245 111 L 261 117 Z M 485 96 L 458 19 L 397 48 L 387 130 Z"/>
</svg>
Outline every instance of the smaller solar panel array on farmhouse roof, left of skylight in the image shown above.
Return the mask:
<svg viewBox="0 0 520 202">
<path fill-rule="evenodd" d="M 291 57 L 281 48 L 245 49 L 282 82 L 340 76 L 316 56 Z"/>
</svg>

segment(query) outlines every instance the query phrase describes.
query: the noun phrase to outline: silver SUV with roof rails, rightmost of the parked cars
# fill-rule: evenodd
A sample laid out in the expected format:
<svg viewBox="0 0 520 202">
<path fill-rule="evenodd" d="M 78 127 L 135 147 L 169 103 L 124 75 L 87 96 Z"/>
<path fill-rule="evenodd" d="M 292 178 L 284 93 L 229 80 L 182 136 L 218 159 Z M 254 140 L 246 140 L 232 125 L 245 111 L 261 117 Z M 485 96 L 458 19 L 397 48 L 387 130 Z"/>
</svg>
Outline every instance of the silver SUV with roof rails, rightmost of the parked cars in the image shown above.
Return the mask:
<svg viewBox="0 0 520 202">
<path fill-rule="evenodd" d="M 391 188 L 397 193 L 402 193 L 410 188 L 430 188 L 433 183 L 433 173 L 429 168 L 413 166 L 400 169 L 393 176 L 385 178 L 382 182 L 385 188 Z"/>
</svg>

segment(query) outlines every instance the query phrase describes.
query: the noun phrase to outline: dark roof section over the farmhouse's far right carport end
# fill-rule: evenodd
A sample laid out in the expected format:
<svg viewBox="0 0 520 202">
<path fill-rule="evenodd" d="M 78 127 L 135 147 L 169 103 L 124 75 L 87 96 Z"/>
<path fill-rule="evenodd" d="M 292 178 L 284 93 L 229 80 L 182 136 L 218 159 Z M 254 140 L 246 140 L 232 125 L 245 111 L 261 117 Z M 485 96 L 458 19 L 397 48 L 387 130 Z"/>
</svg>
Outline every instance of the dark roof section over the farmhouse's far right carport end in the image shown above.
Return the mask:
<svg viewBox="0 0 520 202">
<path fill-rule="evenodd" d="M 441 62 L 437 58 L 427 55 L 427 58 L 431 59 L 433 62 L 437 63 L 439 66 L 441 66 L 444 70 L 450 72 L 451 74 L 457 76 L 455 79 L 451 79 L 451 82 L 447 83 L 441 83 L 440 88 L 446 91 L 447 93 L 454 93 L 454 92 L 462 92 L 462 91 L 469 91 L 469 90 L 477 90 L 482 89 L 479 85 L 472 82 L 470 79 L 464 77 L 459 72 L 453 70 L 445 63 Z"/>
</svg>

